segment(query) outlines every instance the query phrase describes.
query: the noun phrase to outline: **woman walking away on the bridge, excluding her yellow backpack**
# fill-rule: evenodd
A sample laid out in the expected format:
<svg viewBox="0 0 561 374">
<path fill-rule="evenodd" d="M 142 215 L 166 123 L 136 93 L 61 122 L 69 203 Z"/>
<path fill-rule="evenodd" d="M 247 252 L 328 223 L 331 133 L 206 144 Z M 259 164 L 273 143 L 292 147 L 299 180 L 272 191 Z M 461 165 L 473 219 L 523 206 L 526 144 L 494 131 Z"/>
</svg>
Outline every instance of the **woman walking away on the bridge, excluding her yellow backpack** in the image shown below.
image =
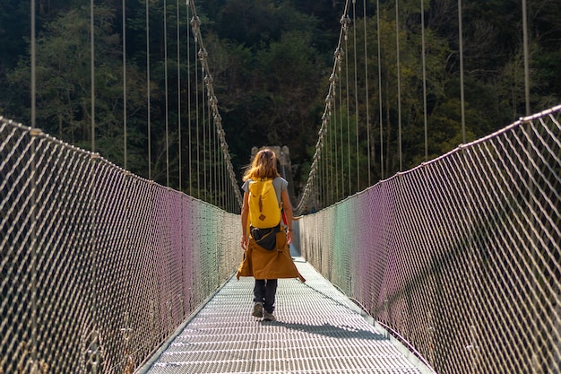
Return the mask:
<svg viewBox="0 0 561 374">
<path fill-rule="evenodd" d="M 272 179 L 277 201 L 281 203 L 286 217 L 286 227 L 279 219 L 276 226 L 264 230 L 267 232 L 265 234 L 263 234 L 263 229 L 255 230 L 254 227 L 258 226 L 257 219 L 250 213 L 249 209 L 249 186 L 254 181 L 264 179 Z M 240 276 L 255 277 L 252 315 L 263 317 L 264 321 L 274 321 L 275 317 L 272 313 L 275 309 L 278 278 L 300 278 L 302 282 L 306 281 L 298 273 L 289 252 L 289 244 L 292 242 L 292 206 L 287 191 L 289 182 L 280 177 L 277 171 L 277 158 L 270 149 L 263 149 L 255 154 L 254 161 L 246 170 L 243 181 L 244 203 L 241 213 L 241 246 L 246 254 L 244 261 L 237 270 L 237 278 L 239 279 Z M 278 216 L 280 217 L 280 214 Z M 264 248 L 264 244 L 262 246 L 255 241 L 255 237 L 259 239 L 262 235 L 274 236 L 272 248 Z"/>
</svg>

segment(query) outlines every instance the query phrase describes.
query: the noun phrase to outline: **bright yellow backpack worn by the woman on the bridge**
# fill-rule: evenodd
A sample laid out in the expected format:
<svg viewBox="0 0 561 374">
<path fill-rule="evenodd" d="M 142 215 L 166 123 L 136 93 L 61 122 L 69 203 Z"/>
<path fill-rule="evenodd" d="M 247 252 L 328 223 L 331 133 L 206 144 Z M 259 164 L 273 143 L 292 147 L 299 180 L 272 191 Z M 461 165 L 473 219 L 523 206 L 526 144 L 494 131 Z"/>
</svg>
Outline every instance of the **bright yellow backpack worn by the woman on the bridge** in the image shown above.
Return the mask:
<svg viewBox="0 0 561 374">
<path fill-rule="evenodd" d="M 280 202 L 271 178 L 249 182 L 249 222 L 258 229 L 268 229 L 280 223 Z"/>
</svg>

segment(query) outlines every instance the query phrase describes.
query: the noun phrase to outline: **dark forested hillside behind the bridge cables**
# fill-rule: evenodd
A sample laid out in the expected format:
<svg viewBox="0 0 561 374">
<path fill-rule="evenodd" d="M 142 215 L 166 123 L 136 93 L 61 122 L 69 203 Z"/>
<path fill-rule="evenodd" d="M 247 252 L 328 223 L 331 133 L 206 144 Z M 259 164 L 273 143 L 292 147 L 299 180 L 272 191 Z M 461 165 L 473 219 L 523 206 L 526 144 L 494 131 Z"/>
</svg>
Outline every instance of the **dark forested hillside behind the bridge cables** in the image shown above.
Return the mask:
<svg viewBox="0 0 561 374">
<path fill-rule="evenodd" d="M 420 63 L 420 1 L 424 1 L 426 80 L 423 79 Z M 358 145 L 360 169 L 369 168 L 360 172 L 363 175 L 368 171 L 372 173 L 374 178 L 370 183 L 388 178 L 399 170 L 415 167 L 427 158 L 434 159 L 462 144 L 461 62 L 468 142 L 527 114 L 522 1 L 462 2 L 462 61 L 458 52 L 458 2 L 420 1 L 401 0 L 399 13 L 396 12 L 395 0 L 364 2 L 367 8 L 367 40 L 365 43 L 364 34 L 358 35 L 357 56 L 364 54 L 358 48 L 367 45 L 373 57 L 367 60 L 368 71 L 372 72 L 368 82 L 363 80 L 359 83 L 361 87 L 367 84 L 371 92 L 369 118 L 361 123 L 357 131 L 366 134 L 366 123 L 370 123 L 375 129 L 372 133 L 375 133 L 378 131 L 378 118 L 384 118 L 383 128 L 380 129 L 384 135 L 370 135 L 372 142 L 369 145 L 363 142 Z M 0 116 L 30 125 L 30 3 L 20 0 L 2 0 L 2 3 Z M 202 21 L 201 30 L 208 48 L 214 89 L 220 100 L 222 126 L 238 178 L 241 178 L 243 168 L 249 162 L 252 147 L 287 145 L 298 195 L 306 183 L 315 152 L 345 2 L 205 0 L 195 4 Z M 105 0 L 95 1 L 94 5 L 96 152 L 117 165 L 124 164 L 122 124 L 126 116 L 126 168 L 143 178 L 149 177 L 148 170 L 151 169 L 151 179 L 163 185 L 168 183 L 169 187 L 183 186 L 186 191 L 191 181 L 180 184 L 176 177 L 166 181 L 164 155 L 170 153 L 169 167 L 174 170 L 171 174 L 177 175 L 180 167 L 177 154 L 192 152 L 190 145 L 200 139 L 194 135 L 189 137 L 191 144 L 185 140 L 178 142 L 177 130 L 173 130 L 169 134 L 171 142 L 164 141 L 167 121 L 177 121 L 177 117 L 187 121 L 191 117 L 187 113 L 188 106 L 177 105 L 177 100 L 180 100 L 177 93 L 165 94 L 168 84 L 164 82 L 163 73 L 164 69 L 168 69 L 168 83 L 179 82 L 180 92 L 189 90 L 186 76 L 193 74 L 195 67 L 189 65 L 186 59 L 176 58 L 177 53 L 186 54 L 186 39 L 189 38 L 190 19 L 186 2 Z M 69 144 L 89 149 L 91 2 L 37 0 L 36 7 L 37 126 Z M 362 25 L 364 8 L 362 4 L 358 8 L 357 24 Z M 376 14 L 376 9 L 380 10 L 379 14 Z M 162 22 L 164 15 L 168 20 L 167 30 L 164 30 Z M 398 60 L 396 17 L 400 26 L 399 92 L 395 83 Z M 145 28 L 147 19 L 149 36 Z M 528 0 L 532 113 L 561 103 L 561 80 L 558 78 L 561 77 L 560 19 L 561 3 L 558 0 Z M 379 36 L 377 30 L 380 30 Z M 148 44 L 146 39 L 149 39 Z M 378 40 L 380 58 L 376 57 Z M 164 48 L 164 43 L 167 43 L 167 48 Z M 169 54 L 168 65 L 161 58 L 164 53 Z M 151 57 L 148 63 L 147 55 Z M 126 115 L 123 110 L 124 58 Z M 149 84 L 148 68 L 151 72 Z M 381 72 L 380 82 L 378 71 Z M 427 86 L 426 113 L 423 83 Z M 147 151 L 147 84 L 151 87 L 151 152 Z M 383 87 L 384 92 L 379 93 L 378 87 Z M 173 90 L 176 92 L 176 88 Z M 382 115 L 378 109 L 380 94 L 383 96 Z M 398 95 L 403 113 L 402 165 L 398 160 L 395 130 Z M 180 113 L 174 110 L 177 108 L 180 108 Z M 423 126 L 425 115 L 427 142 Z M 182 126 L 187 128 L 186 124 Z M 181 144 L 181 150 L 178 144 Z M 384 149 L 383 155 L 379 154 L 379 149 Z M 370 154 L 370 162 L 364 160 L 367 154 Z M 197 160 L 194 158 L 191 162 Z M 351 180 L 353 186 L 349 192 L 368 187 L 366 180 Z M 195 192 L 197 196 L 202 194 L 201 190 Z"/>
</svg>

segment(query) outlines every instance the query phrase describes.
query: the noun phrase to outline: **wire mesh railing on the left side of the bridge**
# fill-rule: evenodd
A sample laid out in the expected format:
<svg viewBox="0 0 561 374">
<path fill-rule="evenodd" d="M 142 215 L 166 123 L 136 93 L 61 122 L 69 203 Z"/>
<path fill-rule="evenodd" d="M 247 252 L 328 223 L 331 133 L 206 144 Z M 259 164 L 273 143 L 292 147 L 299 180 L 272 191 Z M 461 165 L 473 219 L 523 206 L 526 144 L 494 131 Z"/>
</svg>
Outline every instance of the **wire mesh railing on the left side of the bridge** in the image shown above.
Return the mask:
<svg viewBox="0 0 561 374">
<path fill-rule="evenodd" d="M 235 270 L 238 215 L 0 117 L 0 373 L 132 373 Z"/>
</svg>

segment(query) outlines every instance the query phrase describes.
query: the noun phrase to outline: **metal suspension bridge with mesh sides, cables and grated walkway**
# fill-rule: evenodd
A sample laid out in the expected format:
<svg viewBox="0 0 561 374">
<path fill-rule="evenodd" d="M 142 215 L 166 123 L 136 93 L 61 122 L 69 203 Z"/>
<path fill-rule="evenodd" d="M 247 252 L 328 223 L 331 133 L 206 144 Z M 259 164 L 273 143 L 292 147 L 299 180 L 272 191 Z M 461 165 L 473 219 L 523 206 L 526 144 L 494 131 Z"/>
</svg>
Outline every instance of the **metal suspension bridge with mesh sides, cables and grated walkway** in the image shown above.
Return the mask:
<svg viewBox="0 0 561 374">
<path fill-rule="evenodd" d="M 353 190 L 353 158 L 332 151 L 351 143 L 337 129 L 352 117 L 341 87 L 355 84 L 342 79 L 354 6 L 295 204 L 318 210 L 294 222 L 307 281 L 281 280 L 274 322 L 251 316 L 252 280 L 233 277 L 240 191 L 194 2 L 193 111 L 207 115 L 208 143 L 196 152 L 203 170 L 183 176 L 189 187 L 95 151 L 93 78 L 90 150 L 34 117 L 0 118 L 0 373 L 561 372 L 561 106 L 375 183 L 357 172 L 369 187 Z"/>
</svg>

